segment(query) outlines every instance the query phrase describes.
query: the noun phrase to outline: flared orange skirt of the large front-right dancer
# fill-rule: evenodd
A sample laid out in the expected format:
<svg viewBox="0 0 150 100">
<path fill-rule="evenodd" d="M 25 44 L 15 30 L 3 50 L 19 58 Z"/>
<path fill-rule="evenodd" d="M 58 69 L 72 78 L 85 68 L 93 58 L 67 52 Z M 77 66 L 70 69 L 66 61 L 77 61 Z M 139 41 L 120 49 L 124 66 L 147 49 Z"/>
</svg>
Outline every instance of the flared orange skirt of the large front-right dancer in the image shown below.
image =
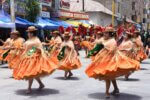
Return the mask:
<svg viewBox="0 0 150 100">
<path fill-rule="evenodd" d="M 106 80 L 115 79 L 139 68 L 138 61 L 125 56 L 120 51 L 112 52 L 103 49 L 95 56 L 85 72 L 89 77 Z"/>
</svg>

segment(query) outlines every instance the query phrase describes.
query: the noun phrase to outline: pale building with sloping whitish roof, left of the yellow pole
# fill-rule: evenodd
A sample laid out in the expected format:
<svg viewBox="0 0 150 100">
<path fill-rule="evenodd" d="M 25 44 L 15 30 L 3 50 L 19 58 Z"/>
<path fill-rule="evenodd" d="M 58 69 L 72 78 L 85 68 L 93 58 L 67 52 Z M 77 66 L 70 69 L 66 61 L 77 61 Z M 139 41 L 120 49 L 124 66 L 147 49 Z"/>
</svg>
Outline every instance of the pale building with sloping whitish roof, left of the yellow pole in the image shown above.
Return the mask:
<svg viewBox="0 0 150 100">
<path fill-rule="evenodd" d="M 106 8 L 101 3 L 96 2 L 94 0 L 84 0 L 83 7 L 82 0 L 79 0 L 79 2 L 74 1 L 71 2 L 70 10 L 82 12 L 84 8 L 84 12 L 86 12 L 89 15 L 89 22 L 91 24 L 107 26 L 112 23 L 112 11 Z M 115 20 L 115 25 L 116 24 L 117 22 Z"/>
</svg>

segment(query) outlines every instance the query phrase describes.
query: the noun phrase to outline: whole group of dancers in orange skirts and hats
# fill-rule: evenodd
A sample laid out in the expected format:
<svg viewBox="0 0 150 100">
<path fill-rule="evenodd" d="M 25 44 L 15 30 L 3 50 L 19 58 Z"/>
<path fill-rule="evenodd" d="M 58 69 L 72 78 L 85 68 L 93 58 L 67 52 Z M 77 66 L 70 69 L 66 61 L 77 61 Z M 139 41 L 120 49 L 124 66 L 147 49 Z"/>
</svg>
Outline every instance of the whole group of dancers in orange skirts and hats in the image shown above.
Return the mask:
<svg viewBox="0 0 150 100">
<path fill-rule="evenodd" d="M 106 27 L 84 40 L 79 39 L 80 36 L 72 36 L 70 32 L 60 36 L 59 31 L 54 31 L 53 37 L 46 43 L 37 37 L 36 27 L 28 27 L 27 33 L 25 41 L 18 31 L 11 32 L 10 38 L 0 47 L 0 60 L 8 62 L 13 78 L 28 81 L 27 94 L 32 92 L 34 79 L 39 83 L 38 90 L 42 90 L 44 84 L 41 78 L 56 70 L 63 70 L 65 79 L 72 77 L 71 71 L 81 67 L 79 48 L 84 48 L 86 57 L 92 61 L 85 70 L 87 76 L 105 80 L 106 98 L 110 97 L 111 83 L 114 86 L 112 94 L 119 93 L 117 77 L 128 79 L 131 73 L 140 69 L 140 62 L 147 58 L 139 31 L 126 30 L 121 44 L 117 43 L 113 27 Z"/>
</svg>

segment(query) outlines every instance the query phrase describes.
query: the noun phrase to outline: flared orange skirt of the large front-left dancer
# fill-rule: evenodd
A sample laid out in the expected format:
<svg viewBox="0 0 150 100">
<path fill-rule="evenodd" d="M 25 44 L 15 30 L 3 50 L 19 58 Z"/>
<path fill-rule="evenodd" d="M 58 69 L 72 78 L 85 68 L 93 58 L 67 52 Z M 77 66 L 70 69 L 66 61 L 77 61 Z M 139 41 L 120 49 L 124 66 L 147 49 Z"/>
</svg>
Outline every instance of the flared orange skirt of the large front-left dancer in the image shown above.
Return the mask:
<svg viewBox="0 0 150 100">
<path fill-rule="evenodd" d="M 23 57 L 13 64 L 13 76 L 17 80 L 43 77 L 52 74 L 57 65 L 48 57 L 34 53 L 31 57 Z"/>
</svg>

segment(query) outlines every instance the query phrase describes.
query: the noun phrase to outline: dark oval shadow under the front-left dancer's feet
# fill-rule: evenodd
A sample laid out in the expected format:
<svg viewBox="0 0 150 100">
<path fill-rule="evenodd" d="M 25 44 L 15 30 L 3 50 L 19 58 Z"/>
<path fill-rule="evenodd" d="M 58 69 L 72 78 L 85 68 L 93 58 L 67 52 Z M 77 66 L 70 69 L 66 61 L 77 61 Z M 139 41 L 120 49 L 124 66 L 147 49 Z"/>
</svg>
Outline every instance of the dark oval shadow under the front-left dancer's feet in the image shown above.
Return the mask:
<svg viewBox="0 0 150 100">
<path fill-rule="evenodd" d="M 16 95 L 23 95 L 23 96 L 46 96 L 46 95 L 53 95 L 53 94 L 59 94 L 58 90 L 55 89 L 43 89 L 42 91 L 38 91 L 37 89 L 33 89 L 31 94 L 26 94 L 26 89 L 21 89 L 16 91 Z"/>
</svg>

